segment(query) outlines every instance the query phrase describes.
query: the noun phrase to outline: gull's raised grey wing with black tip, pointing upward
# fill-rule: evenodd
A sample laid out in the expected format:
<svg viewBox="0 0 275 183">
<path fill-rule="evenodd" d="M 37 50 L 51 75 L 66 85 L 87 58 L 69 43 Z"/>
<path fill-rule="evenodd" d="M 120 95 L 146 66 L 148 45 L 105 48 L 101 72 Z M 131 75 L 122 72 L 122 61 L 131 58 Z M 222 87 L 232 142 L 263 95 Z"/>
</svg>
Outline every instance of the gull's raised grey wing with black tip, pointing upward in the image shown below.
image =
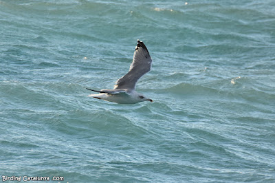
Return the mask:
<svg viewBox="0 0 275 183">
<path fill-rule="evenodd" d="M 137 80 L 150 71 L 151 65 L 152 59 L 146 46 L 137 39 L 137 46 L 135 47 L 129 72 L 115 82 L 113 89 L 135 89 Z"/>
</svg>

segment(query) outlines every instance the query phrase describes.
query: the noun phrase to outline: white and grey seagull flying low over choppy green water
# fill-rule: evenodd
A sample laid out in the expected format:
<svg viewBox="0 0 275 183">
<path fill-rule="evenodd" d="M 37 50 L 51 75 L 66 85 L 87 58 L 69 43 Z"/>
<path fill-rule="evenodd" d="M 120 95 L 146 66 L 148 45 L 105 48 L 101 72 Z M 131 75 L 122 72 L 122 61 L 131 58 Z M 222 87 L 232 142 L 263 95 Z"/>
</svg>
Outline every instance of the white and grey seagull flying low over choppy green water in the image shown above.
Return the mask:
<svg viewBox="0 0 275 183">
<path fill-rule="evenodd" d="M 147 98 L 143 94 L 135 92 L 135 85 L 144 74 L 151 70 L 152 59 L 144 45 L 144 43 L 137 39 L 137 46 L 133 54 L 133 62 L 130 65 L 129 72 L 119 78 L 115 82 L 113 89 L 89 89 L 100 94 L 91 94 L 89 96 L 107 100 L 119 104 L 135 104 L 143 101 L 153 102 L 152 99 Z"/>
</svg>

